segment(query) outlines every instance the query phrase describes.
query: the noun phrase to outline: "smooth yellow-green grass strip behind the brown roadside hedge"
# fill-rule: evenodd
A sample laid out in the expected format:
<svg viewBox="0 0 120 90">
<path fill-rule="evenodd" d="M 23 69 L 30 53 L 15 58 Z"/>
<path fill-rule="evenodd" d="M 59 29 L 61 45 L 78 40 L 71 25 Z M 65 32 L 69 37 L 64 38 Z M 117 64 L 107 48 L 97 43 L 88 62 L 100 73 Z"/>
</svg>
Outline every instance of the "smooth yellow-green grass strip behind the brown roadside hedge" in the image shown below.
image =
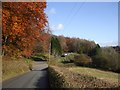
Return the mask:
<svg viewBox="0 0 120 90">
<path fill-rule="evenodd" d="M 118 78 L 120 75 L 118 73 L 114 73 L 110 71 L 102 71 L 102 70 L 86 68 L 86 67 L 73 67 L 73 68 L 69 68 L 69 70 L 75 73 L 93 76 L 98 79 L 102 79 L 109 82 L 118 82 Z"/>
</svg>

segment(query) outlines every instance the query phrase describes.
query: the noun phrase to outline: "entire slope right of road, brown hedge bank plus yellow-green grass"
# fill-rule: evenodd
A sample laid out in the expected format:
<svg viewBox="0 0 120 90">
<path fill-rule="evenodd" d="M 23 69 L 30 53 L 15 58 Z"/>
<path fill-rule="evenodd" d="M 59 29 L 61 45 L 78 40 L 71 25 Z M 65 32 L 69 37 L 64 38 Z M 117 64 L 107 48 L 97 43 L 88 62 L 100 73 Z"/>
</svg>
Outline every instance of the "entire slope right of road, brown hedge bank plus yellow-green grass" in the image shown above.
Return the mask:
<svg viewBox="0 0 120 90">
<path fill-rule="evenodd" d="M 52 88 L 115 88 L 120 86 L 117 73 L 84 67 L 50 66 L 49 79 Z"/>
</svg>

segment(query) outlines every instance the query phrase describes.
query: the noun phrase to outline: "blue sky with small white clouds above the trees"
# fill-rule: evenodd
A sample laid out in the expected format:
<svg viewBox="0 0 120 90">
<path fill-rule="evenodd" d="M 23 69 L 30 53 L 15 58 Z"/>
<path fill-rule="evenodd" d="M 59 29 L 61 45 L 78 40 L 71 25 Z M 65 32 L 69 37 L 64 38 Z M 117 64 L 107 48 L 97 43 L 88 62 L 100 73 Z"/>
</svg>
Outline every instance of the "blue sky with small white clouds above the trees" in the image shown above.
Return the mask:
<svg viewBox="0 0 120 90">
<path fill-rule="evenodd" d="M 118 45 L 117 2 L 47 2 L 52 34 Z"/>
</svg>

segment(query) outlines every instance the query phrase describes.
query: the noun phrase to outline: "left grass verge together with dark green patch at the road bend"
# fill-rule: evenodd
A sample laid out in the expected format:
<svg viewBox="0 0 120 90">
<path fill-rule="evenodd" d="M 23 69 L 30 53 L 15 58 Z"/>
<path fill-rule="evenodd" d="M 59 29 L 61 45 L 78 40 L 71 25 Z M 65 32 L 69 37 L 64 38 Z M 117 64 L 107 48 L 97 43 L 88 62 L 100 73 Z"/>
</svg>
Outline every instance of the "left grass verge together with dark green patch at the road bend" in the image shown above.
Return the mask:
<svg viewBox="0 0 120 90">
<path fill-rule="evenodd" d="M 17 59 L 15 57 L 1 56 L 2 80 L 4 81 L 32 70 L 35 61 L 46 60 L 48 60 L 47 53 L 37 53 L 30 59 L 27 58 Z"/>
</svg>

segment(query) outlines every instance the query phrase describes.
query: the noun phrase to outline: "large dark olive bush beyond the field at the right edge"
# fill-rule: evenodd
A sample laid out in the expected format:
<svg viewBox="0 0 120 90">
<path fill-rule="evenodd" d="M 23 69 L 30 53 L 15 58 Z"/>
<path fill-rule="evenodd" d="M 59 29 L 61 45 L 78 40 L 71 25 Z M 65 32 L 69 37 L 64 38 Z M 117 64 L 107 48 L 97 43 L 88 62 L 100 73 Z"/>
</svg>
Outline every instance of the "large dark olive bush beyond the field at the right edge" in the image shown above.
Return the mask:
<svg viewBox="0 0 120 90">
<path fill-rule="evenodd" d="M 101 68 L 109 71 L 119 71 L 119 54 L 111 47 L 102 48 L 102 51 L 93 56 L 92 65 L 96 68 Z"/>
</svg>

